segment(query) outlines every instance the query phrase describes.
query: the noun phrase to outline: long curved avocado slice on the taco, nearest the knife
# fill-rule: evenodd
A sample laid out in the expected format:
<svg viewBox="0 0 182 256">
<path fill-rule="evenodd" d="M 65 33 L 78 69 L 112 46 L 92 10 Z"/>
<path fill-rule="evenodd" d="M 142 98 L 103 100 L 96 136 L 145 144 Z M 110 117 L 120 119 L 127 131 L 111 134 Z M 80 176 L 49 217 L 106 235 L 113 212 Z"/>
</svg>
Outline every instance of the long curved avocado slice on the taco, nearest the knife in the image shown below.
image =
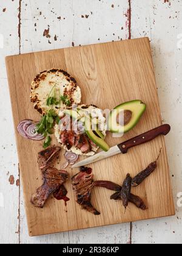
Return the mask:
<svg viewBox="0 0 182 256">
<path fill-rule="evenodd" d="M 107 145 L 107 143 L 102 138 L 96 136 L 95 133 L 91 130 L 90 118 L 85 119 L 85 129 L 87 136 L 90 138 L 90 140 L 93 141 L 93 143 L 95 143 L 97 146 L 103 149 L 103 151 L 109 151 L 110 148 Z"/>
</svg>

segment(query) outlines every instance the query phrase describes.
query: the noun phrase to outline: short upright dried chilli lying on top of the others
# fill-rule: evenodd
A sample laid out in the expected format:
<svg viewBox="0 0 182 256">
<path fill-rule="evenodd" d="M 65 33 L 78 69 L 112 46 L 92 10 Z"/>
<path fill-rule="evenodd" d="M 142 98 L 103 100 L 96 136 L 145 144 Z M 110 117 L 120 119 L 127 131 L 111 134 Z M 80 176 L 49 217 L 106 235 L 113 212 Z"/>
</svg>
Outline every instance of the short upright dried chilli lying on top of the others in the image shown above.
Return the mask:
<svg viewBox="0 0 182 256">
<path fill-rule="evenodd" d="M 123 200 L 123 206 L 126 209 L 129 204 L 129 196 L 132 188 L 132 177 L 127 174 L 126 179 L 123 182 L 123 187 L 121 189 L 121 198 Z"/>
</svg>

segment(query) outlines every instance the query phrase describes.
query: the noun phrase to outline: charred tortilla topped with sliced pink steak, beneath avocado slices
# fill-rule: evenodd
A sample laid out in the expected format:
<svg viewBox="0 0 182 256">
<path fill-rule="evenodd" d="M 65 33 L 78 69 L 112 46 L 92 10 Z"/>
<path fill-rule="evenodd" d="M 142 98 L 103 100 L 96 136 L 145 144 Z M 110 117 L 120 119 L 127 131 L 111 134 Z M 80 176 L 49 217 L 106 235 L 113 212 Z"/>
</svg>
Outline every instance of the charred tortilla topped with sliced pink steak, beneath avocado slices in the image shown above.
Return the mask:
<svg viewBox="0 0 182 256">
<path fill-rule="evenodd" d="M 101 109 L 93 105 L 79 105 L 77 110 L 81 117 L 92 115 L 93 120 L 99 124 L 99 130 L 106 136 L 106 118 L 104 118 Z M 94 155 L 96 151 L 98 151 L 99 147 L 87 137 L 86 133 L 79 136 L 77 133 L 75 134 L 72 127 L 70 127 L 69 131 L 64 130 L 67 125 L 67 120 L 68 122 L 70 121 L 69 117 L 67 119 L 64 115 L 64 110 L 59 112 L 59 117 L 61 118 L 61 121 L 59 122 L 59 125 L 55 125 L 55 137 L 62 148 L 66 151 L 72 151 L 76 155 L 86 156 Z M 87 143 L 89 143 L 89 145 Z"/>
</svg>

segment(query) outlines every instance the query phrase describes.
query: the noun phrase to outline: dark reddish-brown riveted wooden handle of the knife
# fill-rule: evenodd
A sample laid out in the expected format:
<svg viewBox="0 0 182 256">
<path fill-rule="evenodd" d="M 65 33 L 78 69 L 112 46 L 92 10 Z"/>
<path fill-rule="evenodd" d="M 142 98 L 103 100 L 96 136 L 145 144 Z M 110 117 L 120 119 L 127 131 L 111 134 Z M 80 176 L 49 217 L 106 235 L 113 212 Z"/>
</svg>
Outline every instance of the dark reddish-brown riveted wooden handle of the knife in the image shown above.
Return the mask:
<svg viewBox="0 0 182 256">
<path fill-rule="evenodd" d="M 155 129 L 149 130 L 149 132 L 145 132 L 135 138 L 127 140 L 118 145 L 118 148 L 121 150 L 123 154 L 126 154 L 130 148 L 135 146 L 147 143 L 160 135 L 167 135 L 170 132 L 169 124 L 163 124 L 163 126 L 159 126 Z"/>
</svg>

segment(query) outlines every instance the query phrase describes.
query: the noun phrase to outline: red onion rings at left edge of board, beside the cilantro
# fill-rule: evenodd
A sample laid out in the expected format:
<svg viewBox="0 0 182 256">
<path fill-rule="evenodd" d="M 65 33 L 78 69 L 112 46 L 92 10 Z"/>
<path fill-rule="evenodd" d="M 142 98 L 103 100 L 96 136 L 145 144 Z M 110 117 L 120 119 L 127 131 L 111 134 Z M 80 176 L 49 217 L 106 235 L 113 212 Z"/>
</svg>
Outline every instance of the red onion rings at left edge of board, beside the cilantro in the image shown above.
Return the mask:
<svg viewBox="0 0 182 256">
<path fill-rule="evenodd" d="M 19 134 L 30 140 L 44 140 L 44 136 L 36 132 L 36 123 L 30 119 L 21 121 L 17 127 Z"/>
</svg>

